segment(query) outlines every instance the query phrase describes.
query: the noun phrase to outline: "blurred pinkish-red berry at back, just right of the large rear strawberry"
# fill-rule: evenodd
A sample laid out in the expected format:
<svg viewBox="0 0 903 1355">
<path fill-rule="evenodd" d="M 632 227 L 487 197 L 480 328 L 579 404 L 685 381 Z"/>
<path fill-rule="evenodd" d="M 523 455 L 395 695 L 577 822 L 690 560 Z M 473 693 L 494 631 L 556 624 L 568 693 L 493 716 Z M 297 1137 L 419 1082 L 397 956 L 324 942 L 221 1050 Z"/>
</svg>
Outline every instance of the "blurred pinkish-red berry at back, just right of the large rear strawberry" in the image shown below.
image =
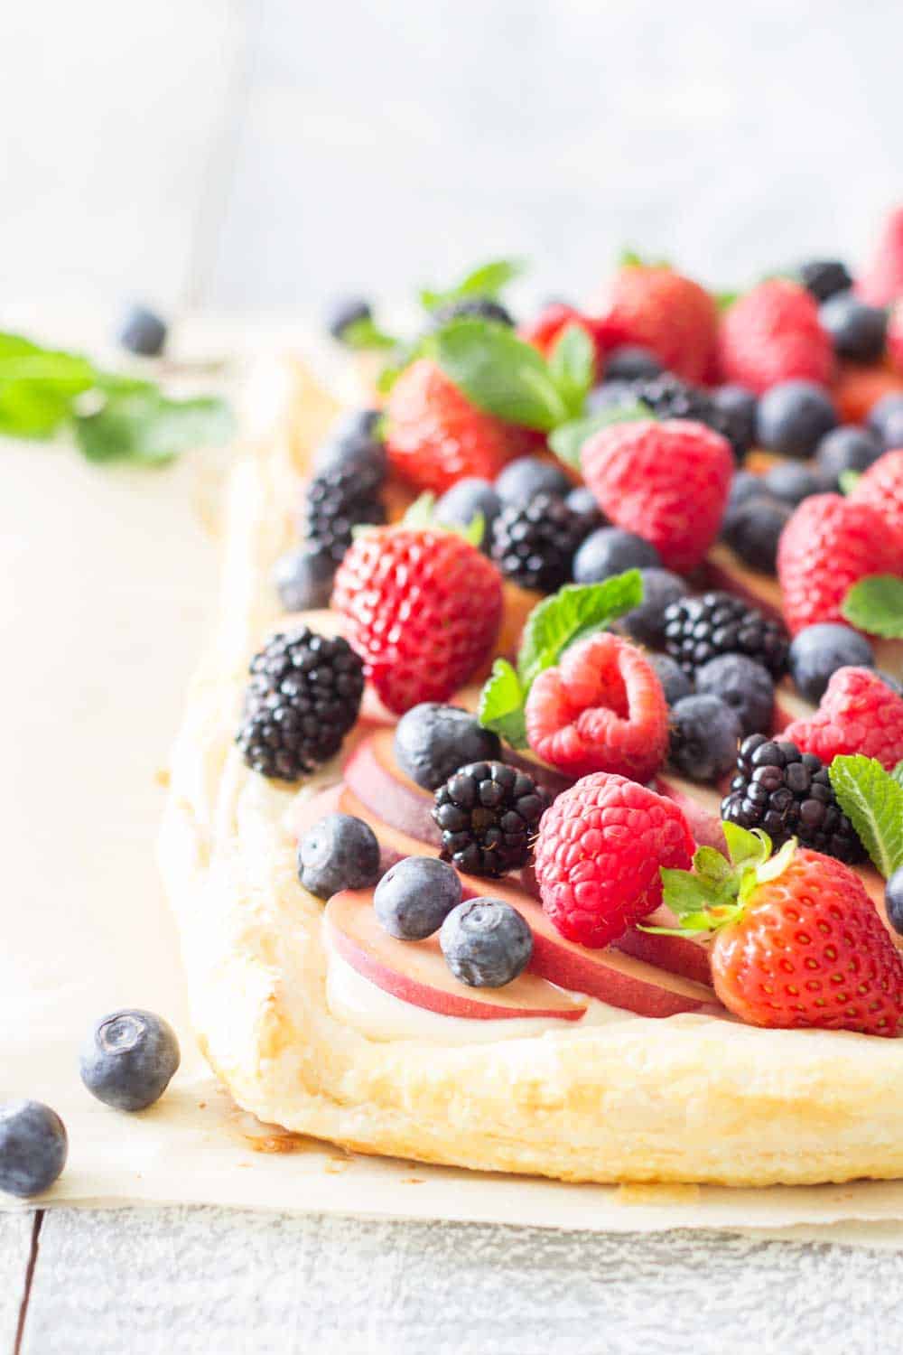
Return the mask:
<svg viewBox="0 0 903 1355">
<path fill-rule="evenodd" d="M 761 282 L 734 302 L 722 320 L 719 355 L 724 381 L 757 394 L 796 378 L 827 385 L 834 370 L 815 298 L 787 278 Z"/>
</svg>

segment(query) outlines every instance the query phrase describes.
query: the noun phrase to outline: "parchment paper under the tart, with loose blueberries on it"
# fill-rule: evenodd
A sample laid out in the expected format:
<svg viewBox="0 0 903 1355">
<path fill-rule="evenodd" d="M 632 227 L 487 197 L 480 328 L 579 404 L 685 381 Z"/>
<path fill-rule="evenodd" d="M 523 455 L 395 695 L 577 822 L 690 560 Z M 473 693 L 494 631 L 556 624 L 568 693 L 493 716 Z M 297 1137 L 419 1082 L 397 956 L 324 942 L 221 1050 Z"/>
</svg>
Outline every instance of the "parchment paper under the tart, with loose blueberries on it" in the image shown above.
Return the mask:
<svg viewBox="0 0 903 1355">
<path fill-rule="evenodd" d="M 834 1240 L 903 1243 L 903 1182 L 565 1186 L 353 1156 L 237 1111 L 194 1046 L 154 866 L 167 751 L 211 615 L 222 461 L 97 469 L 65 446 L 0 443 L 0 1100 L 46 1100 L 68 1125 L 69 1165 L 41 1203 L 609 1232 L 834 1225 Z M 119 1005 L 164 1014 L 181 1039 L 176 1080 L 141 1115 L 100 1106 L 79 1080 L 85 1031 Z"/>
</svg>

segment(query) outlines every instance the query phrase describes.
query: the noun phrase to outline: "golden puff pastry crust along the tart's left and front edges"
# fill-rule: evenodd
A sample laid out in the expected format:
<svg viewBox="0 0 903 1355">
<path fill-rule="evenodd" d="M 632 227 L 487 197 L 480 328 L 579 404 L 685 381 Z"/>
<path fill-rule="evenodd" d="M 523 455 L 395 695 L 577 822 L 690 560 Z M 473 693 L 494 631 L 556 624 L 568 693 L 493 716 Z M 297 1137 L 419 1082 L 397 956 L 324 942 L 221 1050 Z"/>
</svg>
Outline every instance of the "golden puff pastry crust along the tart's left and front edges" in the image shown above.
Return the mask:
<svg viewBox="0 0 903 1355">
<path fill-rule="evenodd" d="M 279 623 L 269 572 L 291 542 L 303 443 L 330 416 L 299 371 L 282 427 L 232 476 L 219 619 L 161 836 L 198 1037 L 238 1104 L 364 1153 L 563 1180 L 903 1175 L 898 1041 L 682 1015 L 447 1047 L 371 1041 L 329 1012 L 292 791 L 248 771 L 233 732 L 248 660 Z"/>
</svg>

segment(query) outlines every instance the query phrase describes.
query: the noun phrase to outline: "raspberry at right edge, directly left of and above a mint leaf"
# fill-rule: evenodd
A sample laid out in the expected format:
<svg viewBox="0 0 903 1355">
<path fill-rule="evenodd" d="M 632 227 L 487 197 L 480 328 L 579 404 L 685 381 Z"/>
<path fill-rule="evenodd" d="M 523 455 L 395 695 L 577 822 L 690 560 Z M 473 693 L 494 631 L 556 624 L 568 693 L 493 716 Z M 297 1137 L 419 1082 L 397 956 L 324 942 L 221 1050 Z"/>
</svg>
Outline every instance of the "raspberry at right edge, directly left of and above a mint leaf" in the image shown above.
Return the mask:
<svg viewBox="0 0 903 1355">
<path fill-rule="evenodd" d="M 791 634 L 820 621 L 843 621 L 841 606 L 852 585 L 868 575 L 896 573 L 902 558 L 900 542 L 872 504 L 841 495 L 806 499 L 777 549 Z"/>
</svg>

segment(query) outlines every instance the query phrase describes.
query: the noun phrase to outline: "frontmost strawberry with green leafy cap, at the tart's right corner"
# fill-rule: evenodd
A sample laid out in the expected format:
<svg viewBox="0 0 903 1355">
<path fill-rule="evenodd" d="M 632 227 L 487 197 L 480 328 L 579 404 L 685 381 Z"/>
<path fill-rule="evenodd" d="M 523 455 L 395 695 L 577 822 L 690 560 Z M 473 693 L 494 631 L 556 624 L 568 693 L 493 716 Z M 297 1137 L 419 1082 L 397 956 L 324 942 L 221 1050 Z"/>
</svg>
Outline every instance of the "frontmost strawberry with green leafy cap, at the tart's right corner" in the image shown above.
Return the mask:
<svg viewBox="0 0 903 1355">
<path fill-rule="evenodd" d="M 896 1035 L 903 957 L 858 875 L 766 833 L 724 825 L 731 863 L 703 847 L 693 873 L 663 871 L 685 932 L 715 931 L 715 992 L 751 1026 Z"/>
</svg>

